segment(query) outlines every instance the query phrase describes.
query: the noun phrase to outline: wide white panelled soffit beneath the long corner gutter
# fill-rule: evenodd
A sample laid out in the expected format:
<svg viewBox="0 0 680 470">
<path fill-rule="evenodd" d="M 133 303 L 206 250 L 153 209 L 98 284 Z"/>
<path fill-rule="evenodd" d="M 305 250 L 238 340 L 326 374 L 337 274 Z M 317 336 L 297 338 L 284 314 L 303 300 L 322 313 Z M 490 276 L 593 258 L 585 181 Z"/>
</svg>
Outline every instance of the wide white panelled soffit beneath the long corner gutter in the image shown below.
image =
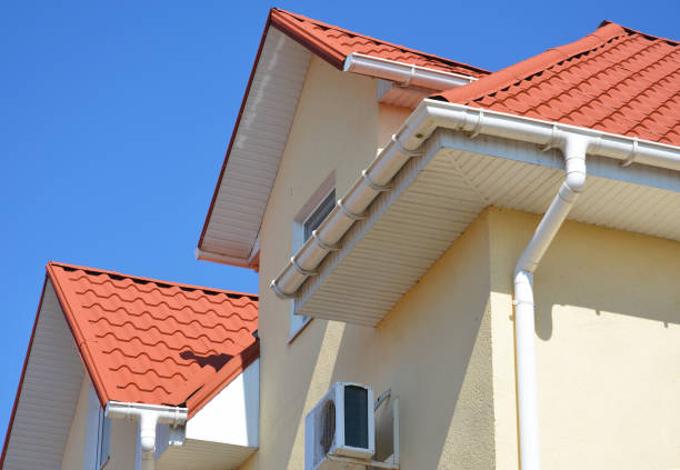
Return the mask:
<svg viewBox="0 0 680 470">
<path fill-rule="evenodd" d="M 678 173 L 618 163 L 588 157 L 569 219 L 680 240 Z M 296 313 L 376 326 L 487 206 L 542 214 L 563 178 L 557 150 L 438 131 L 301 287 Z"/>
</svg>

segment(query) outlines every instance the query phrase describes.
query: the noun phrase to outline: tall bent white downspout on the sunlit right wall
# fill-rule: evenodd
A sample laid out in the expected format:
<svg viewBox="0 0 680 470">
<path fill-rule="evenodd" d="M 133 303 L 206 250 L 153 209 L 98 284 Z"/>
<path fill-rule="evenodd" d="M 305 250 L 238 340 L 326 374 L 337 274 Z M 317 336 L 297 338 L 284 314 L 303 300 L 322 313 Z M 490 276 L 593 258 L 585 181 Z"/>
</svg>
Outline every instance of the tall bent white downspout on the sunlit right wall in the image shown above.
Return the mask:
<svg viewBox="0 0 680 470">
<path fill-rule="evenodd" d="M 517 393 L 522 470 L 540 469 L 539 417 L 536 378 L 533 271 L 586 184 L 589 139 L 567 134 L 562 141 L 564 182 L 541 219 L 514 267 L 514 334 Z"/>
</svg>

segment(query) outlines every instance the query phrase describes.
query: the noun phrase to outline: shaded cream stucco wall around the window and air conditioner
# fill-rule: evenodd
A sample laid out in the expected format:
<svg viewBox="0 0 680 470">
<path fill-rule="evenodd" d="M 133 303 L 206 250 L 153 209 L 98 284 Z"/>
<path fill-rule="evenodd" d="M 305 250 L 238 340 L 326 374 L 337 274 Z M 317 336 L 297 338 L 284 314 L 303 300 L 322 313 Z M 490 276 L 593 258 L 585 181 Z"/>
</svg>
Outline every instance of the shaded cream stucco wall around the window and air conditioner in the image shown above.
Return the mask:
<svg viewBox="0 0 680 470">
<path fill-rule="evenodd" d="M 290 303 L 268 288 L 302 204 L 332 171 L 342 196 L 408 113 L 312 58 L 261 230 L 260 450 L 244 469 L 302 469 L 304 416 L 340 380 L 399 397 L 404 469 L 493 468 L 486 216 L 376 329 L 313 320 L 289 342 Z"/>
</svg>

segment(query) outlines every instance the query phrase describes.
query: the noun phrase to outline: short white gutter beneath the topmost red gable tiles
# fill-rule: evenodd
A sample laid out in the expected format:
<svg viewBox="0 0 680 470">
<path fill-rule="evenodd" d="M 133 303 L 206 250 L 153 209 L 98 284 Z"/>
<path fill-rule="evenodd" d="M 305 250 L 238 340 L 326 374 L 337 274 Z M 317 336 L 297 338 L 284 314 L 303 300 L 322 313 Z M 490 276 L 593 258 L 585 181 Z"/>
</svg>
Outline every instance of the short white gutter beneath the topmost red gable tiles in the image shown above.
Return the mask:
<svg viewBox="0 0 680 470">
<path fill-rule="evenodd" d="M 438 91 L 462 87 L 477 80 L 461 73 L 444 72 L 357 52 L 350 53 L 344 59 L 343 70 L 390 80 L 402 87 L 412 86 Z"/>
</svg>

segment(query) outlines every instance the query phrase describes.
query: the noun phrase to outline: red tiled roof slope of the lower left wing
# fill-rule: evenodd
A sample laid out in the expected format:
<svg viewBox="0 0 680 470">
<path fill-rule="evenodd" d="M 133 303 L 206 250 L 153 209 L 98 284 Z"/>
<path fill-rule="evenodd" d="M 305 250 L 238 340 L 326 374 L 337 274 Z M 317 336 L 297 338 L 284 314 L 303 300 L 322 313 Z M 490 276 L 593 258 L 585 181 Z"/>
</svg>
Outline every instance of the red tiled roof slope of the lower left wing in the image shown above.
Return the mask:
<svg viewBox="0 0 680 470">
<path fill-rule="evenodd" d="M 102 404 L 183 404 L 191 417 L 259 356 L 257 296 L 47 270 Z"/>
</svg>

